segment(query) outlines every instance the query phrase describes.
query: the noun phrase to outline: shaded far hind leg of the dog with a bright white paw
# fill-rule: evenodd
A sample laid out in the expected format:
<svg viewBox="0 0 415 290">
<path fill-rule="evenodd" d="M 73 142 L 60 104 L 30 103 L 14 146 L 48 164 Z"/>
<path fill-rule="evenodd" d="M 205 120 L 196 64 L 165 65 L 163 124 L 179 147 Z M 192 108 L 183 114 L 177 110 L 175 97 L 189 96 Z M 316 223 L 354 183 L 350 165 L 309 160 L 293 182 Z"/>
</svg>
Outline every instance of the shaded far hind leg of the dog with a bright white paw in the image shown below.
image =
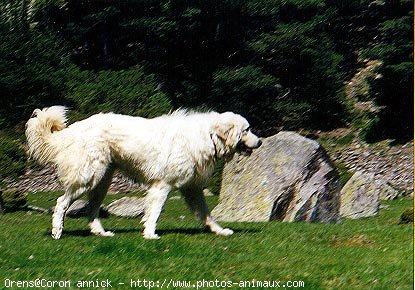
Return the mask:
<svg viewBox="0 0 415 290">
<path fill-rule="evenodd" d="M 88 196 L 88 225 L 91 229 L 91 233 L 97 236 L 112 237 L 114 233 L 111 231 L 105 231 L 104 227 L 99 220 L 99 209 L 101 207 L 102 201 L 107 195 L 108 188 L 111 184 L 112 175 L 114 169 L 111 166 L 107 169 L 101 181 L 93 188 Z"/>
</svg>

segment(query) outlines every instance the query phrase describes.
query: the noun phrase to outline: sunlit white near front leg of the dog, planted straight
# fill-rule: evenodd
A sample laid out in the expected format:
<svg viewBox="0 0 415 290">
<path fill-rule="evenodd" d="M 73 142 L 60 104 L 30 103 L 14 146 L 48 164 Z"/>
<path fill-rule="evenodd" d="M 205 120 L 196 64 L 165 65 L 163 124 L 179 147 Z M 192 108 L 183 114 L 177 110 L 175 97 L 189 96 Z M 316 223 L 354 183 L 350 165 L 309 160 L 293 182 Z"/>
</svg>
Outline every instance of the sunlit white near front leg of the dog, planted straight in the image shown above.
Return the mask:
<svg viewBox="0 0 415 290">
<path fill-rule="evenodd" d="M 168 184 L 154 184 L 148 191 L 146 197 L 146 206 L 144 210 L 144 238 L 149 240 L 159 239 L 156 234 L 156 224 L 160 216 L 164 203 L 171 190 Z"/>
</svg>

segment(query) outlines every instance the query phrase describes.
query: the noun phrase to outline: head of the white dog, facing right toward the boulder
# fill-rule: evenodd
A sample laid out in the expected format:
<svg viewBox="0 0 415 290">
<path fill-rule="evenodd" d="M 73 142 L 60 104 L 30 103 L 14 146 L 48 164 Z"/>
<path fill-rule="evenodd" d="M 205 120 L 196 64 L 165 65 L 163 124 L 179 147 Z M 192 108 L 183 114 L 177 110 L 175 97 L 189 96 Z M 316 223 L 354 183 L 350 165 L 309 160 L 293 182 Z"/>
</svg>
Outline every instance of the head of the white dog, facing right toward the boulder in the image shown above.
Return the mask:
<svg viewBox="0 0 415 290">
<path fill-rule="evenodd" d="M 235 151 L 244 155 L 250 155 L 253 149 L 258 148 L 262 144 L 262 141 L 251 132 L 248 121 L 232 112 L 219 114 L 213 134 L 223 144 L 220 147 L 223 152 L 218 152 L 220 156 Z"/>
</svg>

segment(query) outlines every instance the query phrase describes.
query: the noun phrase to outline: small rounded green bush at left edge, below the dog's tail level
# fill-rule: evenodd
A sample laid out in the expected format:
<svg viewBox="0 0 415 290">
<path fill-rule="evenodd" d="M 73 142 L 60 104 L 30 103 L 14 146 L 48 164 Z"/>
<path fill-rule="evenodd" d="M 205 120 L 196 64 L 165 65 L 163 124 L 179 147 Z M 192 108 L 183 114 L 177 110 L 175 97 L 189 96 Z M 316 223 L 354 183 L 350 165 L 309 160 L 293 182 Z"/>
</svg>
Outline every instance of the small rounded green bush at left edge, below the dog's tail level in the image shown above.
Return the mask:
<svg viewBox="0 0 415 290">
<path fill-rule="evenodd" d="M 0 133 L 0 184 L 3 179 L 16 178 L 23 174 L 26 155 L 18 139 Z"/>
</svg>

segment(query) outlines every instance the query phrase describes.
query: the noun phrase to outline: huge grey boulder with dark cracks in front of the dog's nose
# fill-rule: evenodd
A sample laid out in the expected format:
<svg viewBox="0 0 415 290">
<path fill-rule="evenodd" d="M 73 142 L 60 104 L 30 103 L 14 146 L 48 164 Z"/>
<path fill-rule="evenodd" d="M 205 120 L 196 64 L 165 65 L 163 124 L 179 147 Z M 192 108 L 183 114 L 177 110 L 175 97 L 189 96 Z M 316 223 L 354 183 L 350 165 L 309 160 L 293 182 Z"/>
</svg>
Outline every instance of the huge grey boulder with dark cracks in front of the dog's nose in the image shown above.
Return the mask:
<svg viewBox="0 0 415 290">
<path fill-rule="evenodd" d="M 339 179 L 324 150 L 294 132 L 263 140 L 250 157 L 235 155 L 223 171 L 222 221 L 337 222 Z"/>
</svg>

